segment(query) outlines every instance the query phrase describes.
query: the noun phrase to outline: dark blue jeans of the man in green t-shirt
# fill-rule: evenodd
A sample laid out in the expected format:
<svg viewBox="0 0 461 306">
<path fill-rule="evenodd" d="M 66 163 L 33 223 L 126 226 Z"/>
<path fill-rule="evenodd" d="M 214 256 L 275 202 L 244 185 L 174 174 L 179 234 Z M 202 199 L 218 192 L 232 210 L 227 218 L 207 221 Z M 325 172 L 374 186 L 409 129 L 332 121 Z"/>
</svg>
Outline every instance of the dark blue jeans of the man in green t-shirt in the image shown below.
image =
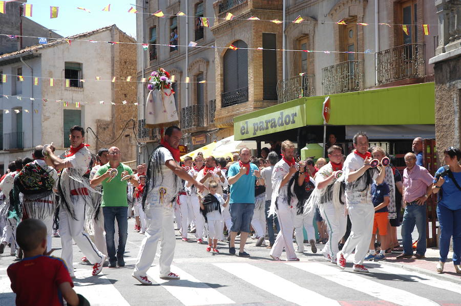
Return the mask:
<svg viewBox="0 0 461 306">
<path fill-rule="evenodd" d="M 102 213 L 104 214 L 107 255 L 109 256 L 109 262 L 115 263 L 117 258 L 123 258 L 123 253 L 125 252 L 125 244 L 128 237 L 128 210 L 126 206 L 102 207 Z M 119 236 L 117 254 L 115 254 L 114 243 L 115 218 L 117 218 Z"/>
</svg>

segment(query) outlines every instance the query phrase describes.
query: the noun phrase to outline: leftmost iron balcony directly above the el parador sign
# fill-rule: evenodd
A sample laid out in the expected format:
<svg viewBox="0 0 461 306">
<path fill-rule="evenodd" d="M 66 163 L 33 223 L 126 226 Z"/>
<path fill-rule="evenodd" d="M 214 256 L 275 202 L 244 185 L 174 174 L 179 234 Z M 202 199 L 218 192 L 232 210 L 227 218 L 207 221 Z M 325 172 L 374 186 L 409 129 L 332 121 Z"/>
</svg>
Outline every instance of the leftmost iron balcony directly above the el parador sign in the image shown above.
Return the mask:
<svg viewBox="0 0 461 306">
<path fill-rule="evenodd" d="M 278 103 L 311 97 L 316 94 L 315 76 L 297 75 L 277 82 Z"/>
</svg>

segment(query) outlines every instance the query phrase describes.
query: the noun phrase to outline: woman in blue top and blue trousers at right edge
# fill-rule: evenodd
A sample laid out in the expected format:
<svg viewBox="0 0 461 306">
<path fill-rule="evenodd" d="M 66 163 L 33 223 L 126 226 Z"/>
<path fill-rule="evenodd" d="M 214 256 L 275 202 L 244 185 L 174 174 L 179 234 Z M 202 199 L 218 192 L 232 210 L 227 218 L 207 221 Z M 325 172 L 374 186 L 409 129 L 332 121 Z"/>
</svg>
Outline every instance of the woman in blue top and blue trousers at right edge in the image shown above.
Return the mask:
<svg viewBox="0 0 461 306">
<path fill-rule="evenodd" d="M 436 270 L 444 271 L 450 238 L 453 236 L 453 264 L 456 273 L 461 274 L 461 151 L 449 147 L 444 151 L 445 166 L 435 172 L 433 193 L 438 193 L 437 217 L 440 234 L 440 259 Z"/>
</svg>

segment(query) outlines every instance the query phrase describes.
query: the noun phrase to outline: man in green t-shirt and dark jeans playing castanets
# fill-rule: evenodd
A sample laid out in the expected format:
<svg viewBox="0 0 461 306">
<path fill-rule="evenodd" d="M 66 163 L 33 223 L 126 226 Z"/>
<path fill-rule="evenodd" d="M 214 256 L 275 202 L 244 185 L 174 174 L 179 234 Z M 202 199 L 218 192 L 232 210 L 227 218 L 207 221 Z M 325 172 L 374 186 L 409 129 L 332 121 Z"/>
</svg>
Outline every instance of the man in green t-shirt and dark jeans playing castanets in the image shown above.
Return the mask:
<svg viewBox="0 0 461 306">
<path fill-rule="evenodd" d="M 109 149 L 109 163 L 102 165 L 91 180 L 91 186 L 102 184 L 102 213 L 104 215 L 104 230 L 106 231 L 106 244 L 109 256 L 109 268 L 125 266 L 123 253 L 128 237 L 128 197 L 127 182 L 135 187 L 139 185 L 133 176 L 133 171 L 127 165 L 120 162 L 120 149 L 111 147 Z M 117 169 L 117 175 L 111 178 L 111 172 Z M 115 171 L 114 171 L 115 172 Z M 128 179 L 127 179 L 128 176 Z M 125 180 L 121 180 L 124 178 Z M 115 251 L 114 234 L 115 218 L 118 223 L 118 248 Z"/>
</svg>

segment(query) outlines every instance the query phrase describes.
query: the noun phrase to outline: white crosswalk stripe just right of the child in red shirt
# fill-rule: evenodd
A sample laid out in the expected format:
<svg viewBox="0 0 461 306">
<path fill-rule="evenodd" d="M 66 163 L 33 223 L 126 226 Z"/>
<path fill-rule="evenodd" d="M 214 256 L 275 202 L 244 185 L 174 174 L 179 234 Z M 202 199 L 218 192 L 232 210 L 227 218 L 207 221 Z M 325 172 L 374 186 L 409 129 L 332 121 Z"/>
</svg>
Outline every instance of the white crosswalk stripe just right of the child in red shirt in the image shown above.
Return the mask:
<svg viewBox="0 0 461 306">
<path fill-rule="evenodd" d="M 75 272 L 74 290 L 81 294 L 87 300 L 91 301 L 91 305 L 95 306 L 130 306 L 127 300 L 121 293 L 112 285 L 112 282 L 105 276 L 97 276 L 87 282 L 88 275 L 91 273 L 87 269 L 78 269 Z M 91 275 L 91 274 L 90 274 Z M 85 282 L 79 283 L 79 279 L 85 278 Z"/>
</svg>

